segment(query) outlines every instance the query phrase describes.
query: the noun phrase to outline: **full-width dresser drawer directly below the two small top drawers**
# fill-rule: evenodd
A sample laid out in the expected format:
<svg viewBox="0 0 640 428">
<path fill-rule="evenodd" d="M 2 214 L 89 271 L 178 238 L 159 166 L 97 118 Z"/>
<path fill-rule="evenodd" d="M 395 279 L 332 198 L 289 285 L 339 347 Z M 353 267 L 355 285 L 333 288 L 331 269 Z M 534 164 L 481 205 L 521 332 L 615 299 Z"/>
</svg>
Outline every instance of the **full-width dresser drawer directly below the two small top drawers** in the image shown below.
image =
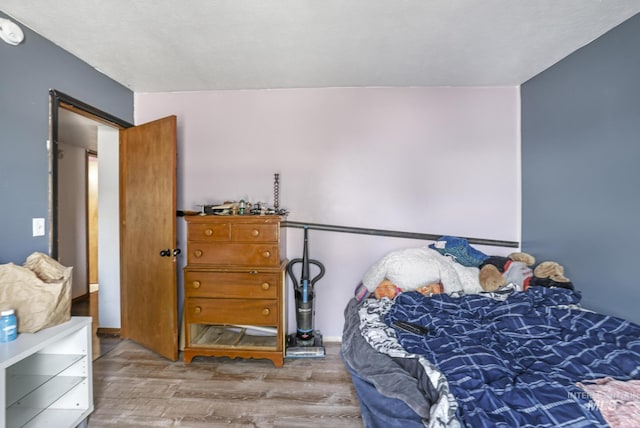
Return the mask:
<svg viewBox="0 0 640 428">
<path fill-rule="evenodd" d="M 216 244 L 190 242 L 187 264 L 276 267 L 280 265 L 279 246 L 277 243 Z"/>
</svg>

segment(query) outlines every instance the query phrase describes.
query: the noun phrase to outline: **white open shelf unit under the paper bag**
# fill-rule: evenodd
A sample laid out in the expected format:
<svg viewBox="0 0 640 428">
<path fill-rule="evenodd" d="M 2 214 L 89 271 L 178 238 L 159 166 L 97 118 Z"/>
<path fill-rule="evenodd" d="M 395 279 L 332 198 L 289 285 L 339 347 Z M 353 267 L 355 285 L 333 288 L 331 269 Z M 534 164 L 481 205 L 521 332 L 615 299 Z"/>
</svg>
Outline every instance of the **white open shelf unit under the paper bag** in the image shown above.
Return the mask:
<svg viewBox="0 0 640 428">
<path fill-rule="evenodd" d="M 76 427 L 93 412 L 91 317 L 0 343 L 0 427 Z"/>
</svg>

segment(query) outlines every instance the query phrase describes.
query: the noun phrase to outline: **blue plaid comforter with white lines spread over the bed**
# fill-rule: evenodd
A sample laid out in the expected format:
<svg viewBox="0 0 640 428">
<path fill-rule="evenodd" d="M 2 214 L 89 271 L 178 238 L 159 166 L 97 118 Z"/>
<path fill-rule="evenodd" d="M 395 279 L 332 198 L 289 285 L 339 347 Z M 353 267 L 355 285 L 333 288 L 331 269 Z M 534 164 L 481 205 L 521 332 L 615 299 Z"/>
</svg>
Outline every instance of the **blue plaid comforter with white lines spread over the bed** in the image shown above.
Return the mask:
<svg viewBox="0 0 640 428">
<path fill-rule="evenodd" d="M 575 383 L 640 378 L 640 326 L 569 306 L 579 301 L 578 292 L 544 287 L 504 302 L 410 292 L 396 297 L 385 322 L 430 329 L 396 333 L 445 374 L 467 426 L 606 427 Z"/>
</svg>

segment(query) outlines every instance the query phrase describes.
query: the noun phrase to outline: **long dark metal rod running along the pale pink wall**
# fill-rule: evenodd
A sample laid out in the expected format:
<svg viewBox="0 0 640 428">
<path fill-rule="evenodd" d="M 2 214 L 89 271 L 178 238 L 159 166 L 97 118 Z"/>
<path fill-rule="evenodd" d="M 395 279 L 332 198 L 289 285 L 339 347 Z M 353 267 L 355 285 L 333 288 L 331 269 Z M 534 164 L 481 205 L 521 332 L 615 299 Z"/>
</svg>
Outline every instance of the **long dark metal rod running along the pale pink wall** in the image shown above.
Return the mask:
<svg viewBox="0 0 640 428">
<path fill-rule="evenodd" d="M 301 221 L 283 221 L 282 227 L 293 227 L 298 229 L 315 229 L 326 230 L 330 232 L 343 232 L 343 233 L 355 233 L 359 235 L 374 235 L 374 236 L 390 236 L 393 238 L 408 238 L 408 239 L 421 239 L 425 241 L 437 241 L 443 235 L 432 235 L 428 233 L 415 233 L 415 232 L 400 232 L 395 230 L 385 229 L 368 229 L 363 227 L 349 227 L 349 226 L 336 226 L 330 224 L 319 223 L 305 223 Z M 467 238 L 460 236 L 469 242 L 469 244 L 475 245 L 490 245 L 494 247 L 512 247 L 518 248 L 520 244 L 515 241 L 500 241 L 495 239 L 482 239 L 482 238 Z"/>
</svg>

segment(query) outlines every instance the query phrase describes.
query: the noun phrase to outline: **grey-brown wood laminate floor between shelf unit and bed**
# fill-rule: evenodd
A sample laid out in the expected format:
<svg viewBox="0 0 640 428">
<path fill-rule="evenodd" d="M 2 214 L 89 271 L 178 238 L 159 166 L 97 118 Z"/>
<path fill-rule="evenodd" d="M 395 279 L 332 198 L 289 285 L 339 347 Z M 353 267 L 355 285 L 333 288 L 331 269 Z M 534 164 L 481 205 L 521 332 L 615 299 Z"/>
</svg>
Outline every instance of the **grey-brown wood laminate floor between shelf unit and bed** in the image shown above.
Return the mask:
<svg viewBox="0 0 640 428">
<path fill-rule="evenodd" d="M 325 343 L 324 358 L 287 359 L 283 368 L 208 357 L 184 364 L 182 354 L 172 362 L 130 340 L 94 343 L 89 428 L 363 427 L 339 343 Z"/>
</svg>

